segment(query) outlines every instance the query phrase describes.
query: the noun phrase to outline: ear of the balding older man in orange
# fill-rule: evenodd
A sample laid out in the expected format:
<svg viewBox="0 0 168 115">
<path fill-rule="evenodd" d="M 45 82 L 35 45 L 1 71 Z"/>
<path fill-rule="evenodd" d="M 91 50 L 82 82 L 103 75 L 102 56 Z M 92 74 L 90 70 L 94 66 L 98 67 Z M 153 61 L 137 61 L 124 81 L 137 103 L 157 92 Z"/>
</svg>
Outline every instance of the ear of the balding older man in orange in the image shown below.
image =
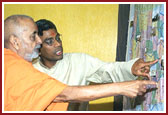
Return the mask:
<svg viewBox="0 0 168 115">
<path fill-rule="evenodd" d="M 15 48 L 16 50 L 19 50 L 20 40 L 19 40 L 18 37 L 16 37 L 15 35 L 10 35 L 9 42 L 12 45 L 13 48 Z"/>
</svg>

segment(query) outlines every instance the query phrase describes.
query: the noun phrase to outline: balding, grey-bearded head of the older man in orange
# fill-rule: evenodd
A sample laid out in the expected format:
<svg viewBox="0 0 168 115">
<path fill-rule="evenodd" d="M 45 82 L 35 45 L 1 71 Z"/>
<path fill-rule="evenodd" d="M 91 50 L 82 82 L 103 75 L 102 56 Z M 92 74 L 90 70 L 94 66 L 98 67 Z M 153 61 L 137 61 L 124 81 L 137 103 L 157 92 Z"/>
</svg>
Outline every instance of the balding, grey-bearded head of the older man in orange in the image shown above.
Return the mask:
<svg viewBox="0 0 168 115">
<path fill-rule="evenodd" d="M 4 22 L 4 47 L 31 61 L 38 56 L 36 46 L 41 44 L 37 33 L 37 25 L 31 17 L 12 15 Z"/>
</svg>

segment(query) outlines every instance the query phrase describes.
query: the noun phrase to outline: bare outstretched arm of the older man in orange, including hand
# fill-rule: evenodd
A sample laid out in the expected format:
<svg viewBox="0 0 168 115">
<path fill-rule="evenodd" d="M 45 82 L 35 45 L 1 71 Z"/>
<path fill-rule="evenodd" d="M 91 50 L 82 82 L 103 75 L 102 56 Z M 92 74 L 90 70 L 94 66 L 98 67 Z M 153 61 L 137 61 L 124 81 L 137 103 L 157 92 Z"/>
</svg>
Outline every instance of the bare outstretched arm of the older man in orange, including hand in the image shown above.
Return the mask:
<svg viewBox="0 0 168 115">
<path fill-rule="evenodd" d="M 54 99 L 54 102 L 91 101 L 116 95 L 125 95 L 133 98 L 146 92 L 146 85 L 156 86 L 157 84 L 154 81 L 136 80 L 91 86 L 69 86 Z"/>
</svg>

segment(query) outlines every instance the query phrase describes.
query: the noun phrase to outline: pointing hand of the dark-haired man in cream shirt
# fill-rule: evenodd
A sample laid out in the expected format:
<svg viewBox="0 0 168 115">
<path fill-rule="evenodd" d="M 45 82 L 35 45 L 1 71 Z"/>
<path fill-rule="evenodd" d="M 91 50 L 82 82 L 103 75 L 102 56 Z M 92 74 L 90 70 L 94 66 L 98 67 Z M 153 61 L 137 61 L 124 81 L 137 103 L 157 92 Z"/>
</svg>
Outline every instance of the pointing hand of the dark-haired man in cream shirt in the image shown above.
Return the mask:
<svg viewBox="0 0 168 115">
<path fill-rule="evenodd" d="M 135 76 L 143 76 L 151 79 L 149 72 L 150 72 L 150 65 L 155 64 L 158 60 L 144 62 L 143 59 L 138 59 L 132 66 L 132 74 Z"/>
</svg>

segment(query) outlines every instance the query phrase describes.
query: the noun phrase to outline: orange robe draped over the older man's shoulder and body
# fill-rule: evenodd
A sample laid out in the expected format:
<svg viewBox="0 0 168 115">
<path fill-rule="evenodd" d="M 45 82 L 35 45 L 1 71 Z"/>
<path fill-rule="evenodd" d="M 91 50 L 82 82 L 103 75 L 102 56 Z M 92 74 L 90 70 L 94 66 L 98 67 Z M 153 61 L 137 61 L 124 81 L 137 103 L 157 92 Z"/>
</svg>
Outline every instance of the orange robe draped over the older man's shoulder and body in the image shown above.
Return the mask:
<svg viewBox="0 0 168 115">
<path fill-rule="evenodd" d="M 4 49 L 5 111 L 65 111 L 67 103 L 51 103 L 65 87 L 16 53 Z"/>
</svg>

